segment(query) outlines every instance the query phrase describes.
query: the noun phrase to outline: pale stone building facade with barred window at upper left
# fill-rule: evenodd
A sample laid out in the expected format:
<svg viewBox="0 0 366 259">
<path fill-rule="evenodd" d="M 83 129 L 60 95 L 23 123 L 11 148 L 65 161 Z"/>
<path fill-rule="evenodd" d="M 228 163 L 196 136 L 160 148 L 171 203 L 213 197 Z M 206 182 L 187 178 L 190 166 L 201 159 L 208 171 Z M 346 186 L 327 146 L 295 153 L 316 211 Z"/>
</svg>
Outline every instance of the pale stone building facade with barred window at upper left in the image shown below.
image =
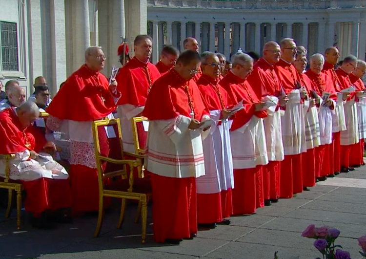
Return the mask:
<svg viewBox="0 0 366 259">
<path fill-rule="evenodd" d="M 108 76 L 119 65 L 122 40 L 131 44 L 146 33 L 146 0 L 0 0 L 0 6 L 0 81 L 19 80 L 27 96 L 37 76 L 55 95 L 90 45 L 102 46 Z"/>
</svg>

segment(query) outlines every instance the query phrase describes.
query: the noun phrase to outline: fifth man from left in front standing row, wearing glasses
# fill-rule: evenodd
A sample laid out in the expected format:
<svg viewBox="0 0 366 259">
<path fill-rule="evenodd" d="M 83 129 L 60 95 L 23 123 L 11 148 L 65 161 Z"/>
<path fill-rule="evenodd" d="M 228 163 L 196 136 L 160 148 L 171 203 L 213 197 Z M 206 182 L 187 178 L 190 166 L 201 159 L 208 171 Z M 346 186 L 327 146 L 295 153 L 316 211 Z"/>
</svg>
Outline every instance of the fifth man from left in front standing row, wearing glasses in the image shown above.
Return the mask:
<svg viewBox="0 0 366 259">
<path fill-rule="evenodd" d="M 280 42 L 281 59 L 275 71 L 283 92 L 288 96 L 282 121 L 282 138 L 285 159 L 281 162 L 280 197 L 291 198 L 303 191 L 301 153 L 306 151 L 305 114 L 303 101 L 308 99 L 305 87 L 292 62 L 296 59 L 297 46 L 293 39 Z"/>
</svg>

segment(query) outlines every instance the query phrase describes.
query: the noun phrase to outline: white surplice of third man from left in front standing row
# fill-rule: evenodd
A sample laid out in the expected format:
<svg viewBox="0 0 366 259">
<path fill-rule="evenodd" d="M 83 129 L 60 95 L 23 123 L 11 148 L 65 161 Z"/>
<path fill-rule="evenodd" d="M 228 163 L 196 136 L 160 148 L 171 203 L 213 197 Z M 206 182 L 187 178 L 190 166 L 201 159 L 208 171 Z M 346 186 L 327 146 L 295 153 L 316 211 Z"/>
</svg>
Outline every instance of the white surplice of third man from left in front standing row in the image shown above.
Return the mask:
<svg viewBox="0 0 366 259">
<path fill-rule="evenodd" d="M 262 118 L 253 115 L 243 127 L 230 132 L 230 139 L 234 169 L 268 164 Z"/>
</svg>

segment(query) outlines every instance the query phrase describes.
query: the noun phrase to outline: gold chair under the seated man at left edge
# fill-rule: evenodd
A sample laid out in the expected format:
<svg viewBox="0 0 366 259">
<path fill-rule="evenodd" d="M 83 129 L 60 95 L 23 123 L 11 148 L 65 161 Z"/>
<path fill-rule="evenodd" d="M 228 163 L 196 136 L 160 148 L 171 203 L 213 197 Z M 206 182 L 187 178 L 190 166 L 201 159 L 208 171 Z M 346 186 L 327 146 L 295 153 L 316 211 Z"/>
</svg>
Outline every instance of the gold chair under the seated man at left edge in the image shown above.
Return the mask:
<svg viewBox="0 0 366 259">
<path fill-rule="evenodd" d="M 5 160 L 5 178 L 0 178 L 0 188 L 7 189 L 9 192 L 8 195 L 8 208 L 5 213 L 5 217 L 9 217 L 12 211 L 13 204 L 13 192 L 17 192 L 17 227 L 20 229 L 20 214 L 21 214 L 21 192 L 23 191 L 23 184 L 20 181 L 14 181 L 9 178 L 10 168 L 9 168 L 9 160 L 15 157 L 14 154 L 0 154 L 0 159 Z"/>
</svg>

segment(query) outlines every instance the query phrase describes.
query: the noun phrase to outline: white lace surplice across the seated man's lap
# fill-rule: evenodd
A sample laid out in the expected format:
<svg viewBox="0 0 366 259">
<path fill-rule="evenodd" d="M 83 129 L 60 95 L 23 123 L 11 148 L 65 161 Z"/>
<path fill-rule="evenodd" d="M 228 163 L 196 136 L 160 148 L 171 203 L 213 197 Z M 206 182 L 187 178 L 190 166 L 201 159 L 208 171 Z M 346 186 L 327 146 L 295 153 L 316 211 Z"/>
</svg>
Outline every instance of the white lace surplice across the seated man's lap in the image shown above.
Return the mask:
<svg viewBox="0 0 366 259">
<path fill-rule="evenodd" d="M 12 180 L 33 181 L 40 178 L 67 179 L 68 173 L 52 156 L 40 153 L 42 159 L 30 159 L 28 150 L 16 153 L 9 160 L 9 177 Z M 5 177 L 6 161 L 0 160 L 0 176 Z"/>
</svg>

